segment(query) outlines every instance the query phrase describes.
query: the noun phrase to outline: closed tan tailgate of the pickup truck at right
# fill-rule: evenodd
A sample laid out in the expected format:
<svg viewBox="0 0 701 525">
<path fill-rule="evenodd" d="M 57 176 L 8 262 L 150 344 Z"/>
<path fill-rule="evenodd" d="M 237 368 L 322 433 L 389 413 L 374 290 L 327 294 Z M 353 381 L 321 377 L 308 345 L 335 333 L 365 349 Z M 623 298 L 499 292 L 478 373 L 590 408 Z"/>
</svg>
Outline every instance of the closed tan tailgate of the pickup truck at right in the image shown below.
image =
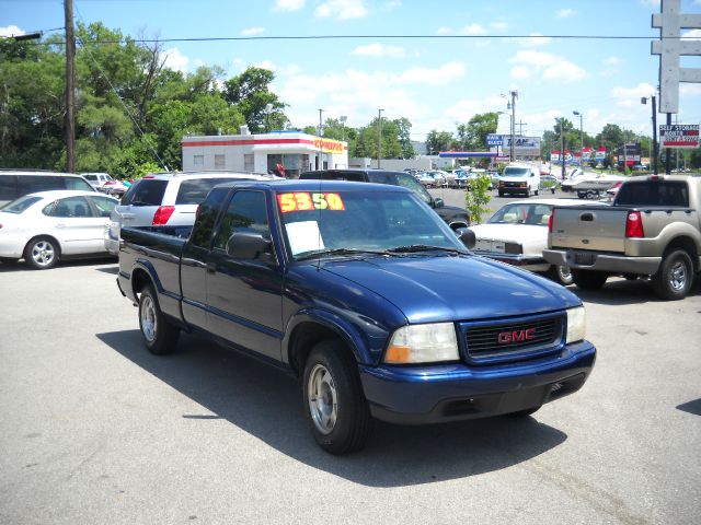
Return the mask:
<svg viewBox="0 0 701 525">
<path fill-rule="evenodd" d="M 555 208 L 550 234 L 553 248 L 625 252 L 628 208 Z"/>
</svg>

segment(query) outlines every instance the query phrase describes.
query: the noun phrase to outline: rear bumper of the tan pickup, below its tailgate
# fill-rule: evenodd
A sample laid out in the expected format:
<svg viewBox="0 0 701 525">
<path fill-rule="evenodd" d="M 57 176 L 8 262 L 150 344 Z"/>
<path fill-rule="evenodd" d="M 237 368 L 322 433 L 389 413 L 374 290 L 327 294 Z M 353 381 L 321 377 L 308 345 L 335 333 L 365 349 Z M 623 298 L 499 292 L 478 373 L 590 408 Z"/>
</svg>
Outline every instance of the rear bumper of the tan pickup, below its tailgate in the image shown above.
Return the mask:
<svg viewBox="0 0 701 525">
<path fill-rule="evenodd" d="M 577 254 L 586 254 L 591 257 L 587 262 L 577 262 Z M 652 276 L 657 272 L 662 264 L 662 257 L 627 257 L 624 255 L 607 254 L 590 250 L 575 249 L 543 249 L 547 261 L 558 266 L 570 268 L 607 271 L 609 273 L 634 273 L 637 276 Z"/>
</svg>

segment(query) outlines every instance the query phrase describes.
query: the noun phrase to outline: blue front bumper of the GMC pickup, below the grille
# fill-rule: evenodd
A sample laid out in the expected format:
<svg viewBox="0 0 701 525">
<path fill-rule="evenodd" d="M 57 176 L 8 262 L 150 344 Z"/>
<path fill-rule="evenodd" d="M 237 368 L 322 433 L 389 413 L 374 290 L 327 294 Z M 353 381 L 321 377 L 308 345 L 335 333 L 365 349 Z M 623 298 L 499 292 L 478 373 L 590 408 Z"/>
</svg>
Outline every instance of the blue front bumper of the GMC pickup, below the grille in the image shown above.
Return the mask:
<svg viewBox="0 0 701 525">
<path fill-rule="evenodd" d="M 360 366 L 370 412 L 400 424 L 476 419 L 537 408 L 578 390 L 596 348 L 582 341 L 554 355 L 499 366 Z"/>
</svg>

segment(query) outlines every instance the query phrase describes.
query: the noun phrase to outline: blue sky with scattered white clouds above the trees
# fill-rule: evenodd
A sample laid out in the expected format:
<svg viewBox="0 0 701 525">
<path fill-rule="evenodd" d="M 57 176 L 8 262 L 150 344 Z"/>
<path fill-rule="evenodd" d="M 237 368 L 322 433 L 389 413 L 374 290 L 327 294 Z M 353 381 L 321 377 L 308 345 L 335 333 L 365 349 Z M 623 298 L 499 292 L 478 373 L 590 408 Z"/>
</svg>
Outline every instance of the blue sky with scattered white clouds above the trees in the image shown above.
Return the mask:
<svg viewBox="0 0 701 525">
<path fill-rule="evenodd" d="M 346 115 L 347 126 L 360 127 L 382 108 L 387 118 L 409 118 L 412 138 L 424 140 L 432 129 L 455 132 L 475 113 L 506 112 L 502 94 L 517 90 L 524 135 L 541 136 L 560 116 L 578 126 L 573 110 L 593 135 L 607 122 L 652 133 L 640 97 L 658 83 L 650 52 L 658 0 L 73 0 L 73 10 L 77 21 L 134 37 L 371 36 L 164 43 L 173 69 L 218 65 L 227 78 L 251 65 L 273 69 L 294 126 L 317 124 L 323 108 L 324 118 Z M 681 11 L 701 13 L 701 0 L 681 0 Z M 62 25 L 60 0 L 0 0 L 0 34 Z M 480 38 L 435 38 L 451 35 Z M 646 38 L 515 37 L 522 35 Z M 701 30 L 689 36 L 701 38 Z M 699 68 L 701 57 L 682 65 Z M 701 84 L 681 84 L 678 121 L 701 121 Z M 502 116 L 499 132 L 508 126 Z"/>
</svg>

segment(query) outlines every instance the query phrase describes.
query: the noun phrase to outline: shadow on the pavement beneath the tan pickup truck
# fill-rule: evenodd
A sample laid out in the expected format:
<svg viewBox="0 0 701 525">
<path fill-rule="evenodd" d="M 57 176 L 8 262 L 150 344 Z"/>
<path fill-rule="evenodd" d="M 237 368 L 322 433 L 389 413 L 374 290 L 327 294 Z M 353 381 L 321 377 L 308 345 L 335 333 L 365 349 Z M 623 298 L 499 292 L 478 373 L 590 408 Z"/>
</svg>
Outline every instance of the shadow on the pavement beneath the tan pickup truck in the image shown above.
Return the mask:
<svg viewBox="0 0 701 525">
<path fill-rule="evenodd" d="M 588 303 L 608 304 L 608 305 L 625 305 L 625 304 L 643 304 L 643 303 L 675 303 L 676 301 L 665 301 L 659 299 L 653 292 L 650 282 L 643 279 L 635 281 L 627 281 L 625 279 L 609 278 L 606 284 L 599 290 L 582 290 L 577 287 L 568 287 Z M 701 295 L 701 277 L 697 277 L 691 285 L 688 298 Z M 685 300 L 681 300 L 682 302 Z"/>
</svg>

